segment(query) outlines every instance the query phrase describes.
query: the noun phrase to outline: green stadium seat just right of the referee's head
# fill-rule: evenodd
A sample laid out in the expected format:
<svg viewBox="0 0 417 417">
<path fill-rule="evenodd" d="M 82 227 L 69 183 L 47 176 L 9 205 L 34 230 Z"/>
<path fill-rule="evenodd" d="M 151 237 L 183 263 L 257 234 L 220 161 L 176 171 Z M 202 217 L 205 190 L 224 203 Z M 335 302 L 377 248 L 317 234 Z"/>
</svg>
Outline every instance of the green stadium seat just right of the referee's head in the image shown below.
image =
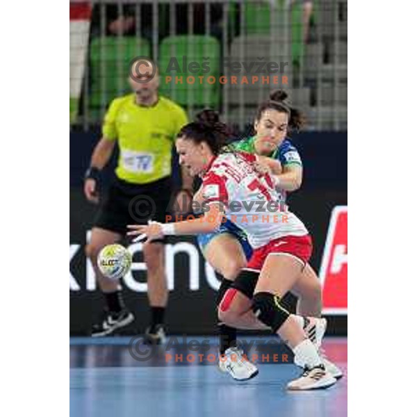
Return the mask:
<svg viewBox="0 0 417 417">
<path fill-rule="evenodd" d="M 183 56 L 186 57 L 187 66 L 193 61 L 199 64 L 195 73 L 188 69 L 182 72 Z M 203 72 L 204 62 L 208 63 L 208 72 Z M 161 94 L 183 106 L 217 107 L 220 104 L 220 44 L 217 39 L 206 35 L 167 37 L 161 42 L 158 63 L 161 71 Z M 174 71 L 172 64 L 177 63 L 179 71 Z M 168 82 L 165 78 L 167 76 L 171 76 L 172 81 Z M 176 76 L 182 76 L 182 84 L 179 81 L 175 83 Z M 187 83 L 188 76 L 195 77 L 195 83 Z M 199 76 L 204 76 L 203 83 L 200 83 Z M 207 83 L 208 76 L 214 76 L 215 83 Z M 190 82 L 192 81 L 193 79 L 190 79 Z"/>
</svg>

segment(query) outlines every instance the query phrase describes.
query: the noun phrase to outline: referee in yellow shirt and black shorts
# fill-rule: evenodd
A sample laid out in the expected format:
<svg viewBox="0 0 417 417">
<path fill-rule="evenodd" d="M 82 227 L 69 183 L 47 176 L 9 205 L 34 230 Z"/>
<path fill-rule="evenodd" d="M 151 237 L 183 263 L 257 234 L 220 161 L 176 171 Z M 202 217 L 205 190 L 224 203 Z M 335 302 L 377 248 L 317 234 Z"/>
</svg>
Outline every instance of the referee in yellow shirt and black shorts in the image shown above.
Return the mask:
<svg viewBox="0 0 417 417">
<path fill-rule="evenodd" d="M 165 222 L 172 193 L 172 147 L 177 133 L 188 123 L 183 108 L 158 95 L 156 65 L 147 60 L 136 61 L 131 74 L 134 76 L 129 76 L 129 84 L 133 93 L 111 102 L 104 118 L 103 136 L 85 174 L 85 197 L 98 203 L 100 172 L 110 160 L 117 142 L 120 156 L 115 181 L 101 206 L 86 248 L 107 304 L 101 322 L 93 326 L 92 336 L 112 334 L 134 320 L 122 300 L 120 284 L 99 272 L 97 255 L 102 247 L 119 241 L 126 234 L 127 224 L 145 224 L 147 220 Z M 183 189 L 177 201 L 189 204 L 193 179 L 182 173 Z M 168 295 L 163 241 L 145 243 L 143 254 L 152 317 L 145 340 L 161 343 L 165 338 L 163 321 Z"/>
</svg>

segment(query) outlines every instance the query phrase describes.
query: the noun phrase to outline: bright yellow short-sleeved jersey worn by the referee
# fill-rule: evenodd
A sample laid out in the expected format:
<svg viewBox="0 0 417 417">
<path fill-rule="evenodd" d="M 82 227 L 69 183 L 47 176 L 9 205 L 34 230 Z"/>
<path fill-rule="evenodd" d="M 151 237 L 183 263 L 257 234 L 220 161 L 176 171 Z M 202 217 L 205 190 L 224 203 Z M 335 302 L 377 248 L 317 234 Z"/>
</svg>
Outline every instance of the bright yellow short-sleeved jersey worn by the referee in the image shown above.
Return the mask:
<svg viewBox="0 0 417 417">
<path fill-rule="evenodd" d="M 188 123 L 186 112 L 158 97 L 152 107 L 139 106 L 135 94 L 114 99 L 104 117 L 103 137 L 120 148 L 116 175 L 131 183 L 150 183 L 170 176 L 172 146 Z"/>
</svg>

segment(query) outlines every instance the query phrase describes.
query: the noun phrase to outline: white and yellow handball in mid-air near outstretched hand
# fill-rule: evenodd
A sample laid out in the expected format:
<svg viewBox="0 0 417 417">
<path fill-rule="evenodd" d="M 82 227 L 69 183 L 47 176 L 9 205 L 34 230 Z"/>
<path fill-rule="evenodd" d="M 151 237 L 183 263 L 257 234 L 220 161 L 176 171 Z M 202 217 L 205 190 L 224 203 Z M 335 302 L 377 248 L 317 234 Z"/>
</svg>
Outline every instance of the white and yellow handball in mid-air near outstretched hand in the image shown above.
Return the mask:
<svg viewBox="0 0 417 417">
<path fill-rule="evenodd" d="M 131 253 L 126 247 L 117 244 L 105 246 L 97 258 L 97 265 L 101 273 L 115 281 L 129 272 L 131 264 Z"/>
</svg>

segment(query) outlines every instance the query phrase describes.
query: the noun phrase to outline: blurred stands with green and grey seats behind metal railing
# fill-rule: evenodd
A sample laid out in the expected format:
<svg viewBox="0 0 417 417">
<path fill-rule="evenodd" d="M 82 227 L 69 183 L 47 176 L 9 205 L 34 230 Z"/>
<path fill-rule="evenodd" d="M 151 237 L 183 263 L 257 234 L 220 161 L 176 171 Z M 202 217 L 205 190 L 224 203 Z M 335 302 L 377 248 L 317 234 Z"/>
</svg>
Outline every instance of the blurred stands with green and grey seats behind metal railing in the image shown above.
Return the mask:
<svg viewBox="0 0 417 417">
<path fill-rule="evenodd" d="M 72 0 L 70 19 L 72 129 L 99 124 L 129 92 L 135 56 L 158 63 L 161 94 L 190 117 L 210 106 L 243 129 L 259 102 L 284 88 L 307 129 L 347 129 L 346 0 Z"/>
</svg>

